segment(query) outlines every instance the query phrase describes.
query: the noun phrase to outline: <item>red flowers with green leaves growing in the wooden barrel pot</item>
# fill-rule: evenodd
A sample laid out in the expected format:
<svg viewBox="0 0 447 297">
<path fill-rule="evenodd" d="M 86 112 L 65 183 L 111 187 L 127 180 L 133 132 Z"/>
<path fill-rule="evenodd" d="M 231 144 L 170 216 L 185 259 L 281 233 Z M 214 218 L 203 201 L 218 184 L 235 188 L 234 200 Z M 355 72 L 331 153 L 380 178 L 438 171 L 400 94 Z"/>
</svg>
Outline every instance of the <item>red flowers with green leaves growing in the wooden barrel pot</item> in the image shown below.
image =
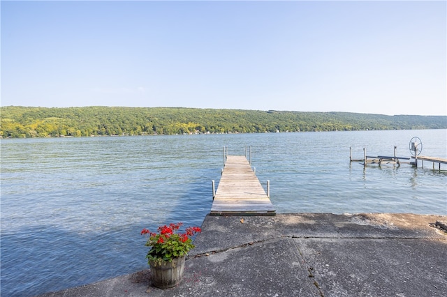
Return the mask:
<svg viewBox="0 0 447 297">
<path fill-rule="evenodd" d="M 182 222 L 177 224 L 169 224 L 160 226 L 158 233 L 142 229 L 141 235 L 148 235 L 146 246 L 152 247 L 147 252 L 147 262 L 150 265 L 152 261 L 155 265 L 163 261 L 172 262 L 173 259 L 186 256 L 189 250 L 194 248 L 193 241 L 190 236 L 201 232 L 199 227 L 187 227 L 184 233 L 179 233 L 178 230 L 182 227 Z"/>
</svg>

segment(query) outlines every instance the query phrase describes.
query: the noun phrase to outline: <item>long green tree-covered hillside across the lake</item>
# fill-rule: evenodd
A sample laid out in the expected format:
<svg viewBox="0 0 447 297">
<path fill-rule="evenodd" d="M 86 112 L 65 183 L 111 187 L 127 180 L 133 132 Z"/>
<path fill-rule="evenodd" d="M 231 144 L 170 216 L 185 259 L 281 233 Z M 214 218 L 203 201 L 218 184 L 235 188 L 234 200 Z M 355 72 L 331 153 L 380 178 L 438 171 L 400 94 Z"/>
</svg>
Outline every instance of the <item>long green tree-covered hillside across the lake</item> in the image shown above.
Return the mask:
<svg viewBox="0 0 447 297">
<path fill-rule="evenodd" d="M 183 107 L 0 107 L 0 137 L 446 129 L 447 116 Z"/>
</svg>

